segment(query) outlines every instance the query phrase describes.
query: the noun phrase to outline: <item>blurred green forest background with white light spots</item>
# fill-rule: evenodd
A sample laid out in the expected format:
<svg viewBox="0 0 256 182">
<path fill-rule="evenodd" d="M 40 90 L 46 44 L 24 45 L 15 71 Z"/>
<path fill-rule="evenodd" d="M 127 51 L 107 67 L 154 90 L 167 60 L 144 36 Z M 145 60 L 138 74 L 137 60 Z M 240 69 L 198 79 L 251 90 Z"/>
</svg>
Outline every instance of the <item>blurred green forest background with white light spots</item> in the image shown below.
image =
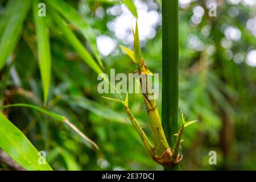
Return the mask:
<svg viewBox="0 0 256 182">
<path fill-rule="evenodd" d="M 0 2 L 1 20 L 7 1 Z M 135 65 L 119 48 L 119 44 L 133 46 L 135 18 L 127 7 L 104 0 L 67 2 L 93 27 L 104 71 L 115 68 L 115 73 L 133 73 Z M 161 75 L 161 1 L 134 2 L 144 58 L 150 71 Z M 208 14 L 211 2 L 218 5 L 216 17 Z M 179 108 L 188 120 L 199 119 L 184 132 L 181 169 L 255 170 L 256 1 L 180 0 L 179 5 Z M 109 96 L 97 92 L 97 74 L 81 60 L 55 23 L 49 20 L 47 26 L 52 54 L 47 108 L 69 118 L 100 150 L 94 151 L 68 127 L 35 110 L 7 109 L 10 121 L 39 151 L 47 152 L 47 162 L 55 170 L 162 169 L 147 154 L 130 121 L 125 120 L 122 106 L 101 98 Z M 84 37 L 73 32 L 86 46 Z M 1 105 L 43 105 L 31 11 L 0 80 Z M 131 111 L 150 135 L 141 95 L 129 97 Z M 161 113 L 161 95 L 157 101 Z M 217 165 L 208 163 L 209 151 L 217 152 Z M 0 169 L 8 168 L 0 163 Z"/>
</svg>

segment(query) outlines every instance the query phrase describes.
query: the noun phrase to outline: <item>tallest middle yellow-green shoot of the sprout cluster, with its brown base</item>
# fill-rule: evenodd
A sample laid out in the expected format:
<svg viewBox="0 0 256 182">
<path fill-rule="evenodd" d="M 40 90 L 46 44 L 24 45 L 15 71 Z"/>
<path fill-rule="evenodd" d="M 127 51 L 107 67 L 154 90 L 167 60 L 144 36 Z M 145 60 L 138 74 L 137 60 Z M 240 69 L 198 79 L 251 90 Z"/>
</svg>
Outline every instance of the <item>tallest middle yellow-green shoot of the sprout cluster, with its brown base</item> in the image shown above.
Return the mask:
<svg viewBox="0 0 256 182">
<path fill-rule="evenodd" d="M 134 63 L 137 64 L 138 73 L 141 76 L 140 77 L 141 90 L 146 91 L 146 92 L 142 92 L 142 96 L 143 96 L 144 104 L 147 109 L 148 119 L 150 121 L 150 126 L 151 126 L 152 137 L 155 144 L 153 158 L 155 159 L 156 162 L 160 164 L 167 164 L 169 163 L 169 160 L 172 155 L 171 148 L 167 143 L 166 136 L 164 135 L 164 131 L 163 131 L 162 123 L 160 121 L 156 102 L 154 99 L 150 100 L 148 98 L 148 96 L 152 96 L 151 81 L 148 78 L 148 75 L 152 75 L 152 73 L 147 68 L 147 64 L 142 57 L 137 22 L 136 22 L 135 32 L 133 31 L 133 34 L 134 34 L 134 51 L 131 51 L 130 49 L 127 49 L 123 46 L 121 46 L 121 48 L 123 49 L 124 52 L 127 53 L 127 55 L 131 57 Z M 142 84 L 142 78 L 146 79 L 146 84 Z"/>
</svg>

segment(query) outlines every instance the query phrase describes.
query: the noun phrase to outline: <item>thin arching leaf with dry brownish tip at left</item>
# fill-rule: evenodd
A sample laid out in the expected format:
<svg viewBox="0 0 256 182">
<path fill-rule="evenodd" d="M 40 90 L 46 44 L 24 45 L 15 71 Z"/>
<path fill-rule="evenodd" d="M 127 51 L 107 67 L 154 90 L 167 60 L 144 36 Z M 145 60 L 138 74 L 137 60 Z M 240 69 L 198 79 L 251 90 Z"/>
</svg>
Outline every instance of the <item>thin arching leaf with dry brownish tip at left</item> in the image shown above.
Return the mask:
<svg viewBox="0 0 256 182">
<path fill-rule="evenodd" d="M 54 119 L 56 119 L 57 121 L 66 123 L 72 130 L 76 131 L 77 134 L 80 135 L 80 137 L 82 137 L 83 139 L 85 139 L 87 142 L 89 142 L 90 144 L 92 144 L 94 146 L 94 148 L 96 148 L 98 150 L 98 146 L 96 143 L 94 143 L 91 139 L 89 139 L 88 137 L 86 137 L 86 135 L 84 135 L 79 129 L 77 129 L 77 127 L 75 125 L 73 125 L 70 121 L 68 121 L 68 119 L 66 117 L 64 117 L 63 115 L 59 115 L 56 113 L 52 113 L 51 111 L 48 111 L 46 109 L 43 109 L 41 107 L 38 106 L 34 106 L 34 105 L 30 105 L 30 104 L 10 104 L 10 105 L 5 105 L 5 106 L 1 106 L 0 109 L 5 109 L 7 107 L 30 107 L 32 109 L 38 110 L 41 113 L 44 113 L 46 115 L 48 115 L 49 117 L 52 117 Z"/>
</svg>

